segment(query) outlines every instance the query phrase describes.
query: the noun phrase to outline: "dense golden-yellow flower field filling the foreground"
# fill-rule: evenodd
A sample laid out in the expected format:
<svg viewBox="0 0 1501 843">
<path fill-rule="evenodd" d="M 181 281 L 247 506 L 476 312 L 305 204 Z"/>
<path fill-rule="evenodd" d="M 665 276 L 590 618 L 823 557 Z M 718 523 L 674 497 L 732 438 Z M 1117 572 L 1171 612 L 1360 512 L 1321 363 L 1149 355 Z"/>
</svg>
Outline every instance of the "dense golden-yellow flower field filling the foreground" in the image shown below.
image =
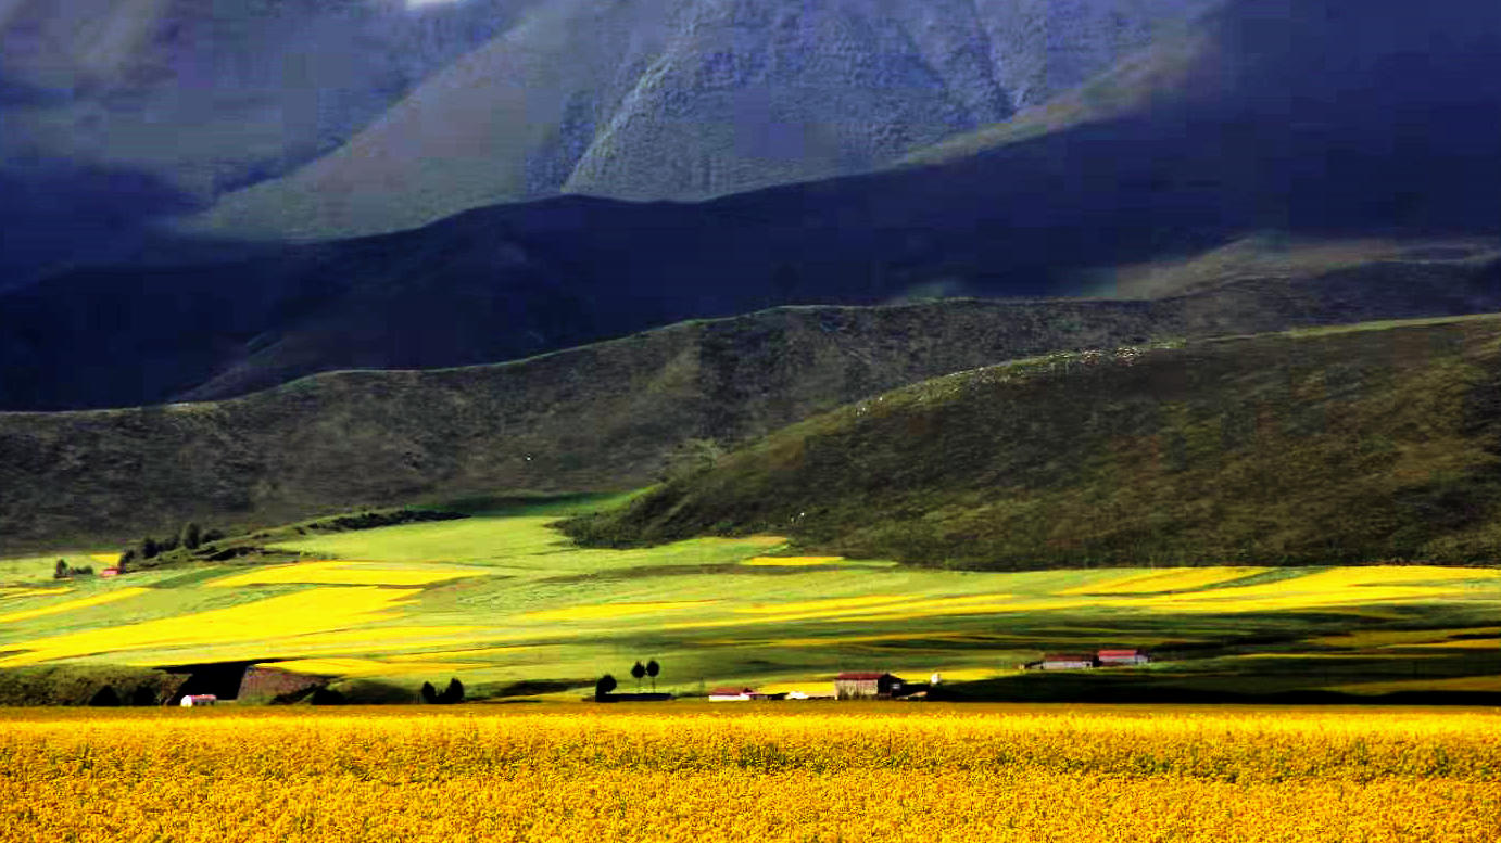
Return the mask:
<svg viewBox="0 0 1501 843">
<path fill-rule="evenodd" d="M 0 828 L 36 843 L 1493 843 L 1501 828 L 1496 712 L 917 708 L 26 714 L 0 722 Z"/>
</svg>

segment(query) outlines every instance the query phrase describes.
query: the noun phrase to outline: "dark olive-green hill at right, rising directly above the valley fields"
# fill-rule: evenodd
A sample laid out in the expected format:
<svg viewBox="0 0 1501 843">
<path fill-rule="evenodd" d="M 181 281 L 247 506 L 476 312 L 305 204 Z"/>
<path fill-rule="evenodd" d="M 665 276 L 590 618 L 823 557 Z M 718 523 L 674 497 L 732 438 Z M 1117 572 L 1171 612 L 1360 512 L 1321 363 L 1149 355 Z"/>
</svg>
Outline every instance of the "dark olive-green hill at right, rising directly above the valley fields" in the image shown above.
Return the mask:
<svg viewBox="0 0 1501 843">
<path fill-rule="evenodd" d="M 1052 354 L 794 424 L 572 531 L 985 568 L 1493 562 L 1498 363 L 1498 316 Z"/>
</svg>

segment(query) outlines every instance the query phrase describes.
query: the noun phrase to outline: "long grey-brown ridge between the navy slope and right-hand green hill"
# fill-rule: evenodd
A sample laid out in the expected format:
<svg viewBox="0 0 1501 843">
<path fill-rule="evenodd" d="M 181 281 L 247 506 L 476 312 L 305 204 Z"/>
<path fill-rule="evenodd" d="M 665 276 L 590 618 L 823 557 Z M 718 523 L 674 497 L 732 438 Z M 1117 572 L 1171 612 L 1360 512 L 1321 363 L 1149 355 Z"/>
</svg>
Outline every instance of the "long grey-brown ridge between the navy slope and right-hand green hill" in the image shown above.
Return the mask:
<svg viewBox="0 0 1501 843">
<path fill-rule="evenodd" d="M 1436 303 L 1501 309 L 1493 252 L 1358 267 L 1313 256 L 1322 274 L 1232 276 L 1156 300 L 784 308 L 494 366 L 335 372 L 221 402 L 0 412 L 0 555 L 186 520 L 267 525 L 495 490 L 633 489 L 695 453 L 1001 360 Z M 1169 268 L 1180 274 L 1168 282 L 1192 278 Z"/>
</svg>

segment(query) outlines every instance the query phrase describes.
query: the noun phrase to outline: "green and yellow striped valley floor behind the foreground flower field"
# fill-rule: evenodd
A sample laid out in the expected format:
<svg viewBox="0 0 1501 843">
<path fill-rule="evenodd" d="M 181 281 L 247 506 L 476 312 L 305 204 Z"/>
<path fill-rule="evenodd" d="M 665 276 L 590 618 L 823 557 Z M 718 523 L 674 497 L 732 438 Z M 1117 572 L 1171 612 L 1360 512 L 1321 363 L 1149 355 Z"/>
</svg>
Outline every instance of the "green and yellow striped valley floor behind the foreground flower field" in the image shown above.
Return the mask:
<svg viewBox="0 0 1501 843">
<path fill-rule="evenodd" d="M 958 572 L 778 558 L 778 537 L 578 549 L 552 514 L 488 514 L 287 542 L 293 566 L 200 564 L 50 579 L 0 566 L 0 668 L 284 666 L 476 696 L 744 682 L 829 693 L 839 670 L 940 672 L 991 696 L 1135 688 L 1501 692 L 1501 570 L 1114 568 Z M 63 591 L 66 588 L 66 591 Z M 1021 674 L 1054 650 L 1145 646 L 1132 672 Z M 545 682 L 545 686 L 536 686 Z M 507 690 L 509 688 L 509 690 Z"/>
</svg>

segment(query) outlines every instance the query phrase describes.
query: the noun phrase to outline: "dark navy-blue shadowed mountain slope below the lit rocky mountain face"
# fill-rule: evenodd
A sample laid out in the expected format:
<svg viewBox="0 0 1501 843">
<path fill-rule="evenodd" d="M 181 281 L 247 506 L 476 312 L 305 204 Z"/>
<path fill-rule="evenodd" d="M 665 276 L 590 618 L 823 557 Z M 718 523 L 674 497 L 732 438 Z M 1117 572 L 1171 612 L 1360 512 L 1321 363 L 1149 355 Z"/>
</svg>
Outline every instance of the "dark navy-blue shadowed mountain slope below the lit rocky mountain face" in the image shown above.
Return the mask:
<svg viewBox="0 0 1501 843">
<path fill-rule="evenodd" d="M 1213 50 L 1186 76 L 1204 90 L 1166 90 L 1139 111 L 943 165 L 701 206 L 560 198 L 165 280 L 140 272 L 164 300 L 269 314 L 210 315 L 197 339 L 170 340 L 191 370 L 143 346 L 173 334 L 171 320 L 71 333 L 77 302 L 129 273 L 80 270 L 0 297 L 0 406 L 225 396 L 341 366 L 515 358 L 683 318 L 925 286 L 1060 296 L 1090 278 L 1079 270 L 1253 230 L 1501 232 L 1501 8 L 1286 0 L 1276 10 L 1237 3 L 1207 24 Z M 1435 312 L 1415 298 L 1412 315 Z M 116 356 L 96 375 L 98 344 Z"/>
</svg>

